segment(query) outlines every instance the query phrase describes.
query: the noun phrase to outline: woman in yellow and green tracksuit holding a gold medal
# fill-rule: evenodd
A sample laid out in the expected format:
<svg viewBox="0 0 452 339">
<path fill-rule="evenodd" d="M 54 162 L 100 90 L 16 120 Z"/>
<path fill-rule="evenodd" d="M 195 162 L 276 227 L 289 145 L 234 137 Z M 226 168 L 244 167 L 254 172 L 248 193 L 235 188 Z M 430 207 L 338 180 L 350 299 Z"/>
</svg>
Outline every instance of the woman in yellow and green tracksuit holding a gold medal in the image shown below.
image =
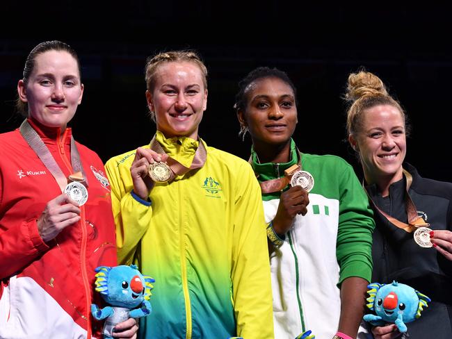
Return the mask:
<svg viewBox="0 0 452 339">
<path fill-rule="evenodd" d="M 197 130 L 207 69 L 193 52 L 146 67 L 154 139 L 108 160 L 120 263 L 156 281 L 143 338 L 273 338 L 260 189 L 248 163 L 208 147 Z M 150 165 L 170 179 L 150 179 Z M 151 171 L 152 172 L 152 171 Z"/>
</svg>

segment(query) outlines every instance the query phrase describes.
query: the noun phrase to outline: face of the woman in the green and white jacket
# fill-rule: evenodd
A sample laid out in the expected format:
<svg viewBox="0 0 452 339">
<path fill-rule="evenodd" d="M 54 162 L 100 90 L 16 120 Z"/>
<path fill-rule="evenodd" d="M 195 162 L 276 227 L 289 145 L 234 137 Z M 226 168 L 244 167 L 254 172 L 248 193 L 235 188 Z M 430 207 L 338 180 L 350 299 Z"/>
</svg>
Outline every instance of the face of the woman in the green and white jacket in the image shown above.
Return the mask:
<svg viewBox="0 0 452 339">
<path fill-rule="evenodd" d="M 280 78 L 259 78 L 245 93 L 245 110 L 237 114 L 241 124 L 248 127 L 255 147 L 287 144 L 298 122 L 291 86 Z"/>
</svg>

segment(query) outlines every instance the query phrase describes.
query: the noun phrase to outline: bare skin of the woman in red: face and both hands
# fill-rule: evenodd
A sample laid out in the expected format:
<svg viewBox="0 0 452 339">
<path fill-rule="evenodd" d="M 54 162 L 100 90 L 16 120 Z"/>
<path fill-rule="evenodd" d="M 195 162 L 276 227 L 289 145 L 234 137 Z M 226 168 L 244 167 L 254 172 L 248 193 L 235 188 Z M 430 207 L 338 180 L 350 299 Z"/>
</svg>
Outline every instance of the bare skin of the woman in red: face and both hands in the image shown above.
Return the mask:
<svg viewBox="0 0 452 339">
<path fill-rule="evenodd" d="M 81 104 L 83 83 L 79 66 L 67 51 L 50 50 L 35 58 L 35 67 L 27 83 L 17 83 L 19 98 L 29 106 L 29 117 L 47 127 L 66 129 Z M 65 194 L 47 202 L 37 225 L 42 240 L 49 242 L 66 227 L 80 221 L 80 208 L 76 201 Z M 138 323 L 130 318 L 117 324 L 115 338 L 136 339 Z"/>
</svg>

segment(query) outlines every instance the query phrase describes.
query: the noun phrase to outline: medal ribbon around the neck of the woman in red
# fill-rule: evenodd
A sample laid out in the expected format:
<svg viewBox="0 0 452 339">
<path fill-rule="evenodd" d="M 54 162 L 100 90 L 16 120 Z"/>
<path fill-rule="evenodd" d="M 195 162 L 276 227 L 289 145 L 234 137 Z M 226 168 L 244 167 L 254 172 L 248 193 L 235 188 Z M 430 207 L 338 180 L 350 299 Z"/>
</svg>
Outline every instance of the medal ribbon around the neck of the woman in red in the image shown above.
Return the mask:
<svg viewBox="0 0 452 339">
<path fill-rule="evenodd" d="M 61 171 L 60 167 L 56 163 L 54 156 L 51 155 L 49 149 L 42 141 L 38 133 L 36 133 L 35 129 L 33 129 L 33 127 L 29 124 L 27 120 L 24 120 L 24 122 L 22 122 L 22 124 L 19 127 L 19 131 L 22 134 L 22 137 L 25 139 L 25 141 L 29 144 L 31 149 L 33 149 L 35 154 L 40 158 L 45 167 L 49 169 L 51 175 L 54 176 L 56 182 L 60 186 L 61 192 L 64 192 L 68 182 L 68 178 L 66 178 L 66 176 L 63 174 L 63 171 Z M 86 177 L 86 173 L 83 170 L 83 166 L 81 165 L 80 154 L 75 145 L 74 137 L 72 136 L 71 136 L 71 163 L 74 173 L 81 172 L 81 174 L 83 175 L 84 180 L 81 181 L 81 183 L 88 187 L 88 178 Z M 71 179 L 71 176 L 69 179 Z"/>
</svg>

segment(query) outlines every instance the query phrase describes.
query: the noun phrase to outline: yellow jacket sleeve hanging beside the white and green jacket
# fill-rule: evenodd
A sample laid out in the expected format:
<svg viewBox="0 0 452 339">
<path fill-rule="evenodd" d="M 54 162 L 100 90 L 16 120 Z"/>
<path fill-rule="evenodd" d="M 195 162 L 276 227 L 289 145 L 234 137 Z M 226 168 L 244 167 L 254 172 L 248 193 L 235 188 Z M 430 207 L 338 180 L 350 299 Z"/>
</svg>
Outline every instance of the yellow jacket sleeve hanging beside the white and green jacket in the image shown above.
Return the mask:
<svg viewBox="0 0 452 339">
<path fill-rule="evenodd" d="M 261 191 L 248 163 L 236 180 L 232 283 L 237 336 L 273 338 L 270 263 Z"/>
</svg>

